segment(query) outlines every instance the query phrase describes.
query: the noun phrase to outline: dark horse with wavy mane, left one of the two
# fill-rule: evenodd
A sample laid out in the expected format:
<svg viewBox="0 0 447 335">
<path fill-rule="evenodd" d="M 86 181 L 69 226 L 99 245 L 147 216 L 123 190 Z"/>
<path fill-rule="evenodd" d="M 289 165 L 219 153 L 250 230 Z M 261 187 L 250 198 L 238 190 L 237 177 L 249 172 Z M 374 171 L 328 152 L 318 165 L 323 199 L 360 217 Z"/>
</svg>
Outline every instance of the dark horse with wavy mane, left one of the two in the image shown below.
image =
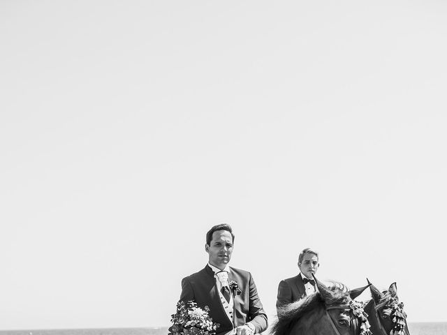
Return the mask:
<svg viewBox="0 0 447 335">
<path fill-rule="evenodd" d="M 281 308 L 272 335 L 371 334 L 361 332 L 367 319 L 362 308 L 353 301 L 369 285 L 346 292 L 342 284 L 328 288 L 315 281 L 318 292 Z"/>
</svg>

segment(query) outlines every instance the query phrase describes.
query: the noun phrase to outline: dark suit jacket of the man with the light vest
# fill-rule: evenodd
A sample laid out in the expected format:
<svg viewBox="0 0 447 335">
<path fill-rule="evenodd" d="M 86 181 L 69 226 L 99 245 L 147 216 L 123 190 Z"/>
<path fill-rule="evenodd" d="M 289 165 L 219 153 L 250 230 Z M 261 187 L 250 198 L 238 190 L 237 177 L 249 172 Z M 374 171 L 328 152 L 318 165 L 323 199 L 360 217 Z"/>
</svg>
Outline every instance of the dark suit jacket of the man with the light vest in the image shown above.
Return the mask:
<svg viewBox="0 0 447 335">
<path fill-rule="evenodd" d="M 265 331 L 268 326 L 267 315 L 258 297 L 258 291 L 251 274 L 248 271 L 230 267 L 228 281 L 236 281 L 242 291 L 240 295 L 233 296 L 233 325 L 223 310 L 214 272 L 208 265 L 205 266 L 205 269 L 183 278 L 180 300 L 196 301 L 200 308 L 210 307 L 210 317 L 214 322 L 220 324 L 217 334 L 229 332 L 249 321 L 254 325 L 256 333 Z"/>
</svg>

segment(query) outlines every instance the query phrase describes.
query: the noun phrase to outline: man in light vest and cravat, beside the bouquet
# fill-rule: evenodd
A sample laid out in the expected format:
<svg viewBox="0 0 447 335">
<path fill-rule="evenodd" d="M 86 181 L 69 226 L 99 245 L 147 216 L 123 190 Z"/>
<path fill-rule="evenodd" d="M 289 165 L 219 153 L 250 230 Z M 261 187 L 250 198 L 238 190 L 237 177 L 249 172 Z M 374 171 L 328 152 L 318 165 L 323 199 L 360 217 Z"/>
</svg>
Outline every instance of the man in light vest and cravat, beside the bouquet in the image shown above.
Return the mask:
<svg viewBox="0 0 447 335">
<path fill-rule="evenodd" d="M 215 225 L 207 232 L 208 264 L 183 278 L 180 300 L 208 306 L 213 322 L 220 325 L 217 334 L 257 334 L 267 329 L 267 315 L 251 274 L 228 266 L 233 242 L 230 225 Z"/>
</svg>

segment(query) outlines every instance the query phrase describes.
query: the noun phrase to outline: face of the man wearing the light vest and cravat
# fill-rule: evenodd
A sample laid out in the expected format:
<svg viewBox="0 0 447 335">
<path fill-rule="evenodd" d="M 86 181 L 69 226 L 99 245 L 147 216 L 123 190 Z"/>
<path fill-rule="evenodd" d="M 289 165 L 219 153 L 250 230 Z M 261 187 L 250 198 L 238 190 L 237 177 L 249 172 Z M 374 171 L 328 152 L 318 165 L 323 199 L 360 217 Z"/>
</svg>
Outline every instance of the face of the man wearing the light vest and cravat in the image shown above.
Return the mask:
<svg viewBox="0 0 447 335">
<path fill-rule="evenodd" d="M 210 245 L 205 244 L 211 265 L 221 270 L 225 269 L 233 252 L 233 237 L 227 230 L 217 230 L 212 233 Z"/>
</svg>

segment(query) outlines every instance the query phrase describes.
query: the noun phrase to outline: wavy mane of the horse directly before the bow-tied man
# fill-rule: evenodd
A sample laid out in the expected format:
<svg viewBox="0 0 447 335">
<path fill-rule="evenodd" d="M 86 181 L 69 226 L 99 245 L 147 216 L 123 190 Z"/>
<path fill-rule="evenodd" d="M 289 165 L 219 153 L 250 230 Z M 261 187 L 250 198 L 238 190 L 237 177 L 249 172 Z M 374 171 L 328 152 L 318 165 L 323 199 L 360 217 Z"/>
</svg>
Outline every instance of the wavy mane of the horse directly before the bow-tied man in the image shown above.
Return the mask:
<svg viewBox="0 0 447 335">
<path fill-rule="evenodd" d="M 302 318 L 302 315 L 314 310 L 314 308 L 321 304 L 325 304 L 326 306 L 332 304 L 349 304 L 351 297 L 349 297 L 349 292 L 346 292 L 345 289 L 345 285 L 337 283 L 337 285 L 328 288 L 331 294 L 330 297 L 326 297 L 325 301 L 321 298 L 320 292 L 314 292 L 304 299 L 279 308 L 278 320 L 272 326 L 271 334 L 288 335 L 295 323 Z"/>
</svg>

